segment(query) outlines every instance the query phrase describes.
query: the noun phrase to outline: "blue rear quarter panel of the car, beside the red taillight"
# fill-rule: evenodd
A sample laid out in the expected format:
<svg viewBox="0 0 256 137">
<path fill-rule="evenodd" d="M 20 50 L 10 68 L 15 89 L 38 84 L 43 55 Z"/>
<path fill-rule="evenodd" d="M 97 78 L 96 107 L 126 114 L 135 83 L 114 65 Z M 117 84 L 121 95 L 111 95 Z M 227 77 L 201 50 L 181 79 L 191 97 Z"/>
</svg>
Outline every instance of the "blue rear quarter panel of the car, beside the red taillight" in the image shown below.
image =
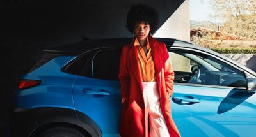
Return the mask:
<svg viewBox="0 0 256 137">
<path fill-rule="evenodd" d="M 74 57 L 56 57 L 21 79 L 40 80 L 42 83 L 29 89 L 17 90 L 17 108 L 61 107 L 74 109 L 72 85 L 76 75 L 63 73 L 61 67 Z M 45 75 L 47 74 L 47 75 Z"/>
</svg>

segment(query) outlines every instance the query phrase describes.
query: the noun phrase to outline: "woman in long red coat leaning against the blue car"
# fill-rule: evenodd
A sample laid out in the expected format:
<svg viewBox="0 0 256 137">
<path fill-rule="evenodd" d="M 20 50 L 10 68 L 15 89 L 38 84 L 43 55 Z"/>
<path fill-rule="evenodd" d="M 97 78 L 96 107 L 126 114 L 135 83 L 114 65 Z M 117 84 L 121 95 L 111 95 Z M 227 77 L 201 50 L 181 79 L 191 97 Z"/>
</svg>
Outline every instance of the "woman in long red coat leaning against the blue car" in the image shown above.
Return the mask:
<svg viewBox="0 0 256 137">
<path fill-rule="evenodd" d="M 151 36 L 158 20 L 157 11 L 143 4 L 132 5 L 127 13 L 127 29 L 135 36 L 120 59 L 122 137 L 180 136 L 170 108 L 172 64 L 166 45 Z"/>
</svg>

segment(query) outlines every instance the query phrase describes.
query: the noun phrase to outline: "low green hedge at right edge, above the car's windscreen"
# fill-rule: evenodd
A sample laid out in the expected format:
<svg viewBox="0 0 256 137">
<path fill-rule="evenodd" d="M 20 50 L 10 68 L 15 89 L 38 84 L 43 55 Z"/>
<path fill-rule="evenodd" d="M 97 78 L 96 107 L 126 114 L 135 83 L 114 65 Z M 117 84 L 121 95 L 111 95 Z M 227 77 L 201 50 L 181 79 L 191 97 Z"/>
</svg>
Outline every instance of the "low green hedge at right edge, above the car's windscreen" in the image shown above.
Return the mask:
<svg viewBox="0 0 256 137">
<path fill-rule="evenodd" d="M 211 48 L 219 54 L 256 54 L 256 48 Z"/>
</svg>

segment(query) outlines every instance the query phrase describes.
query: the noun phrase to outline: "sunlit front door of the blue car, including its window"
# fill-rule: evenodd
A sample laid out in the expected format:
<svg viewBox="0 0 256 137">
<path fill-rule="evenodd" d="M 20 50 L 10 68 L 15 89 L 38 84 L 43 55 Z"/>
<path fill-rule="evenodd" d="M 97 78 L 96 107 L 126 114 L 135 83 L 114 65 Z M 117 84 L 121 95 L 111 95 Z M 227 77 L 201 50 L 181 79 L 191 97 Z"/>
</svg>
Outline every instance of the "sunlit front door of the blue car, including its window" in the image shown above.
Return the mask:
<svg viewBox="0 0 256 137">
<path fill-rule="evenodd" d="M 171 51 L 172 115 L 180 134 L 255 136 L 256 95 L 245 91 L 243 71 L 211 55 Z"/>
</svg>

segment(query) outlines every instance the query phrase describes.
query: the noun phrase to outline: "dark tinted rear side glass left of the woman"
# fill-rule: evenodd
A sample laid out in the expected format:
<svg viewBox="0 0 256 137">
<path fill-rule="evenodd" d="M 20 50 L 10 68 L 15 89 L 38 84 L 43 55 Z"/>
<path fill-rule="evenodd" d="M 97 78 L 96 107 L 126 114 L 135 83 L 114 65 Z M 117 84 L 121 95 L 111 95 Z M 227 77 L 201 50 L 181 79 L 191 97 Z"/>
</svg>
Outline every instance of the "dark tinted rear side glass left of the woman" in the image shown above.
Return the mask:
<svg viewBox="0 0 256 137">
<path fill-rule="evenodd" d="M 70 63 L 65 72 L 102 80 L 118 80 L 122 48 L 94 50 Z"/>
</svg>

